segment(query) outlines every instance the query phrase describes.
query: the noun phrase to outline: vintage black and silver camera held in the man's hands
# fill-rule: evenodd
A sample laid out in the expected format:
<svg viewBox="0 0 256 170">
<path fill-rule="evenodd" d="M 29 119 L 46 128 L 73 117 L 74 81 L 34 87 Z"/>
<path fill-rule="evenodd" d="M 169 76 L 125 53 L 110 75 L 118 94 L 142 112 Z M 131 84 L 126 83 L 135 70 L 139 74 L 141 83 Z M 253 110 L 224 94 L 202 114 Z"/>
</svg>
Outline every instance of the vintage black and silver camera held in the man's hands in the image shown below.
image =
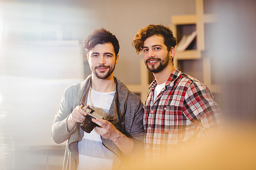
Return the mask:
<svg viewBox="0 0 256 170">
<path fill-rule="evenodd" d="M 94 112 L 93 109 L 91 109 L 90 107 L 86 107 L 83 106 L 82 110 L 85 111 L 87 113 L 86 115 L 86 119 L 84 119 L 84 121 L 81 123 L 80 127 L 81 129 L 86 132 L 86 133 L 91 133 L 91 131 L 93 130 L 93 128 L 95 128 L 96 126 L 100 127 L 99 125 L 95 124 L 94 122 L 92 122 L 93 118 L 101 118 L 103 119 L 103 117 L 97 113 Z"/>
</svg>

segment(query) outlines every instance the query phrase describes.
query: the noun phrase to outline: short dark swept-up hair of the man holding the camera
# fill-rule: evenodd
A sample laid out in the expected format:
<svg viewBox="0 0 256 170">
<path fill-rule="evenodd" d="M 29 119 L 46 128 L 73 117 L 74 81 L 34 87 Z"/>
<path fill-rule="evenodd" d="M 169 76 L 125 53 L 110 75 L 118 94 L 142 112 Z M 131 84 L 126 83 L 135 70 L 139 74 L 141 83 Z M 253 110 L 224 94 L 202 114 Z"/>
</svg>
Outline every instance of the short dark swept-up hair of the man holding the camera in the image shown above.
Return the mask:
<svg viewBox="0 0 256 170">
<path fill-rule="evenodd" d="M 83 40 L 83 47 L 86 49 L 87 53 L 91 51 L 97 44 L 112 43 L 114 47 L 115 54 L 119 53 L 119 42 L 114 34 L 110 31 L 101 28 L 99 30 L 94 30 L 90 35 L 88 35 Z"/>
</svg>

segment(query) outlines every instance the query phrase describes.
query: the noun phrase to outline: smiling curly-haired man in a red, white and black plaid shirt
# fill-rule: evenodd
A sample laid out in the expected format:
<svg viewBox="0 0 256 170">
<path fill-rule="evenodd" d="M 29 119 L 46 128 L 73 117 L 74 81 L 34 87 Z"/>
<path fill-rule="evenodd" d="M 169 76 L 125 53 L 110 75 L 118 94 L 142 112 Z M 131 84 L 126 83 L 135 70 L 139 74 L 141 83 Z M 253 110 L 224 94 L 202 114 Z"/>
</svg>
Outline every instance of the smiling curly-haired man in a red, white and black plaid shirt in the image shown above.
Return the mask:
<svg viewBox="0 0 256 170">
<path fill-rule="evenodd" d="M 173 32 L 162 25 L 149 25 L 137 32 L 133 45 L 155 76 L 143 116 L 146 160 L 208 136 L 221 123 L 221 110 L 206 85 L 174 67 Z"/>
</svg>

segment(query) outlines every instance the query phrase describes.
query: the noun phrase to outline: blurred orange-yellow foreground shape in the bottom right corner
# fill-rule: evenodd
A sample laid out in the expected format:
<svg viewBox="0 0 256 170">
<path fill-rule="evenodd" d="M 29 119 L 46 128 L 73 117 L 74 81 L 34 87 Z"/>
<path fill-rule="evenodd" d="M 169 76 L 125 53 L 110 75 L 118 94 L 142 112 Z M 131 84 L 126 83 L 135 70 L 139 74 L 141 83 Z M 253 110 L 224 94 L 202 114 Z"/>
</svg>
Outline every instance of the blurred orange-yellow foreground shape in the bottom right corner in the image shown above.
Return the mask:
<svg viewBox="0 0 256 170">
<path fill-rule="evenodd" d="M 219 134 L 201 143 L 187 145 L 155 163 L 136 169 L 256 169 L 256 126 L 224 126 Z"/>
</svg>

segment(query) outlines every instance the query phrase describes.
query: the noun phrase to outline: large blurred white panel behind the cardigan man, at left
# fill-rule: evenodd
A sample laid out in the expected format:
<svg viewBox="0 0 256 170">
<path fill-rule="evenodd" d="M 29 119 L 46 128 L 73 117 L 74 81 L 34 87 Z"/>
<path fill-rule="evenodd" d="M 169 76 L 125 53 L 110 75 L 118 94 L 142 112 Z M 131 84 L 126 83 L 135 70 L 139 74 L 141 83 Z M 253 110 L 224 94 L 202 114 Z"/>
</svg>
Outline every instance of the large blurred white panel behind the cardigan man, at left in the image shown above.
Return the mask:
<svg viewBox="0 0 256 170">
<path fill-rule="evenodd" d="M 5 44 L 0 56 L 0 130 L 11 133 L 12 147 L 55 145 L 51 126 L 61 95 L 84 79 L 82 46 L 78 41 L 18 42 Z"/>
</svg>

